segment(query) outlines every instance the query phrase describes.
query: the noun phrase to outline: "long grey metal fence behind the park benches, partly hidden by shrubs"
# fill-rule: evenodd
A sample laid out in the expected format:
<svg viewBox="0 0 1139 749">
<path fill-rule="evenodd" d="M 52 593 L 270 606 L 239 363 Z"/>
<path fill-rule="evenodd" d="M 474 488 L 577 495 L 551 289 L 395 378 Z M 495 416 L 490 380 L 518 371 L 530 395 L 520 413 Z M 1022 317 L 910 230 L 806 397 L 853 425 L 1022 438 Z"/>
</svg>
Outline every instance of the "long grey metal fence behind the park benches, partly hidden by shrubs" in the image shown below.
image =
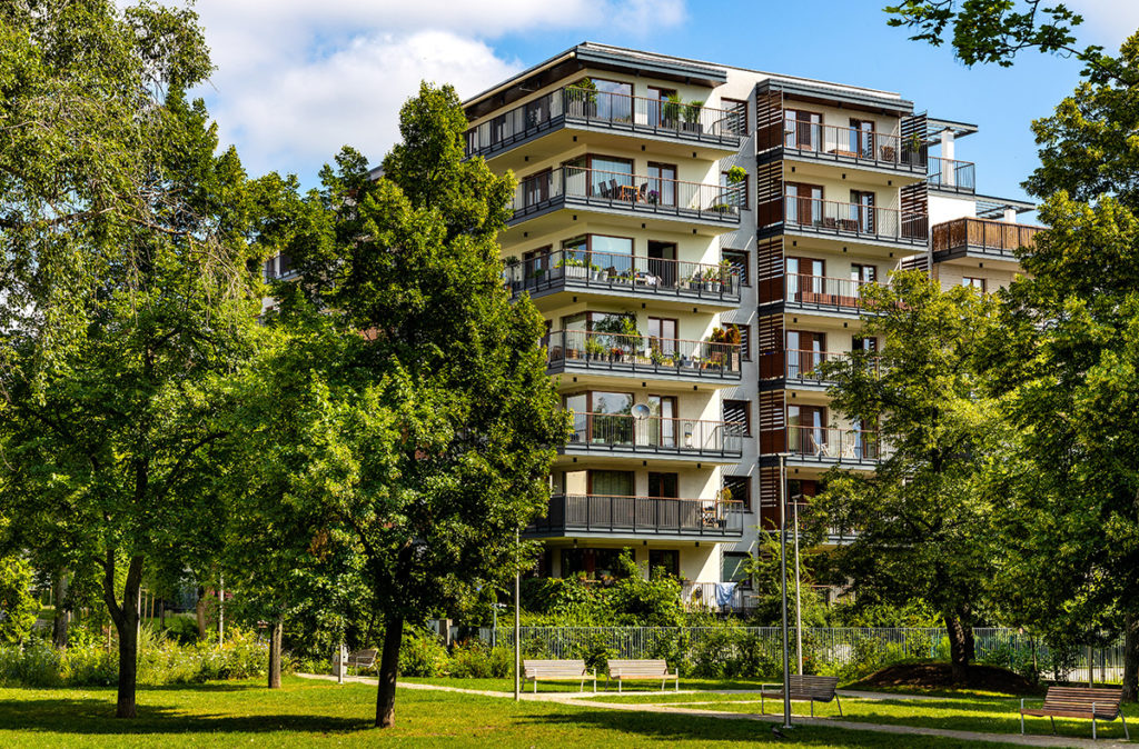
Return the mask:
<svg viewBox="0 0 1139 749">
<path fill-rule="evenodd" d="M 486 643 L 514 644 L 514 627 L 481 627 Z M 1104 648 L 1052 652 L 1047 644 L 1018 629 L 975 628 L 976 662 L 1023 670 L 1035 664 L 1041 678 L 1088 682 L 1089 655 L 1096 683 L 1123 680 L 1123 642 Z M 792 657 L 795 628 L 790 628 Z M 708 648 L 749 648 L 772 661 L 782 657 L 779 627 L 522 627 L 523 652 L 543 658 L 583 658 L 605 650 L 609 658 L 661 658 L 665 653 L 699 652 Z M 804 658 L 826 672 L 858 662 L 867 653 L 885 661 L 949 659 L 949 637 L 939 627 L 804 627 Z"/>
</svg>

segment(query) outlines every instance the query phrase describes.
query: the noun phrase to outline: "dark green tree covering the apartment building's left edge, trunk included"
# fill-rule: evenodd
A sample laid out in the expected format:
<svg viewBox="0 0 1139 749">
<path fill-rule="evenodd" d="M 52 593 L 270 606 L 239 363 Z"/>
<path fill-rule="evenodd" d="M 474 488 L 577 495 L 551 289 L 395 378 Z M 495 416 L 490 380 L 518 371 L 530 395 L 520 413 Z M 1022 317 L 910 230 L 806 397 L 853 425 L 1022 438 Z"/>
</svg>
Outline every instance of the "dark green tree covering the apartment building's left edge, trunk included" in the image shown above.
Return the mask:
<svg viewBox="0 0 1139 749">
<path fill-rule="evenodd" d="M 541 318 L 501 281 L 514 180 L 464 159 L 465 129 L 454 90 L 424 84 L 382 178 L 342 151 L 314 198 L 325 213 L 293 242 L 298 288 L 281 303 L 286 324 L 303 303 L 351 337 L 330 378 L 327 458 L 311 470 L 384 615 L 378 726 L 394 724 L 404 623 L 524 563 L 516 534 L 546 510 L 566 439 Z"/>
</svg>

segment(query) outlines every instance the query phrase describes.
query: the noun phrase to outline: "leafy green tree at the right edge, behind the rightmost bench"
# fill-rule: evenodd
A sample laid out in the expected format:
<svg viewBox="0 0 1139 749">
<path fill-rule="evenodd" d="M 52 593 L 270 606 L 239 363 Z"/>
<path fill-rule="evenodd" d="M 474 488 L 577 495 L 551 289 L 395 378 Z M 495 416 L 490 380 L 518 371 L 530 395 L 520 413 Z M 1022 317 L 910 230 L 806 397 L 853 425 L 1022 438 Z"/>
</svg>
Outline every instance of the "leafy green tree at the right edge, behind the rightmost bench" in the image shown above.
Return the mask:
<svg viewBox="0 0 1139 749">
<path fill-rule="evenodd" d="M 1050 229 L 1010 288 L 994 364 L 1021 427 L 1031 480 L 1010 536 L 1009 587 L 1042 628 L 1124 633 L 1123 685 L 1139 678 L 1139 220 L 1111 197 L 1063 192 L 1041 208 Z M 1085 634 L 1087 636 L 1087 634 Z"/>
</svg>

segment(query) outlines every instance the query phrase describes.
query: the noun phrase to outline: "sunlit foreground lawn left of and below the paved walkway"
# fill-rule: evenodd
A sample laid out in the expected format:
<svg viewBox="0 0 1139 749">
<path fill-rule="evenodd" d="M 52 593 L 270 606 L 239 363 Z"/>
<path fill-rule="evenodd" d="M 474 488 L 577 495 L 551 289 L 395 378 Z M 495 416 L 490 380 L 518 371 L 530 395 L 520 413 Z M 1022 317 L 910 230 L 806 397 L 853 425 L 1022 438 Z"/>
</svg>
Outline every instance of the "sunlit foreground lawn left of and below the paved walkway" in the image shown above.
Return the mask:
<svg viewBox="0 0 1139 749">
<path fill-rule="evenodd" d="M 0 690 L 3 747 L 487 746 L 629 747 L 803 746 L 957 747 L 923 736 L 891 736 L 810 726 L 772 742 L 770 725 L 685 715 L 620 711 L 400 690 L 396 727 L 369 729 L 376 690 L 364 684 L 287 677 L 270 692 L 260 682 L 226 682 L 139 692 L 136 721 L 116 721 L 113 689 Z M 983 747 L 986 744 L 967 744 Z M 995 744 L 990 744 L 995 746 Z"/>
</svg>

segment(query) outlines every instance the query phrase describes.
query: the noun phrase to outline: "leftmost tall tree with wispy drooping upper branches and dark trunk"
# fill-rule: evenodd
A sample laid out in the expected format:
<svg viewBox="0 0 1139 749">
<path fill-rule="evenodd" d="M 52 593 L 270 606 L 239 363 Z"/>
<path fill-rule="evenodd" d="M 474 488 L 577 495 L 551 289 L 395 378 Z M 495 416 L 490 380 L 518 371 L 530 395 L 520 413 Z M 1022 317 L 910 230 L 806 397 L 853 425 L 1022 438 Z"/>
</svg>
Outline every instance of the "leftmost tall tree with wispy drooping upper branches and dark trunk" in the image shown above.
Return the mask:
<svg viewBox="0 0 1139 749">
<path fill-rule="evenodd" d="M 99 567 L 118 717 L 144 570 L 208 546 L 219 382 L 256 337 L 245 174 L 183 94 L 210 69 L 189 10 L 0 11 L 0 513 Z"/>
</svg>

